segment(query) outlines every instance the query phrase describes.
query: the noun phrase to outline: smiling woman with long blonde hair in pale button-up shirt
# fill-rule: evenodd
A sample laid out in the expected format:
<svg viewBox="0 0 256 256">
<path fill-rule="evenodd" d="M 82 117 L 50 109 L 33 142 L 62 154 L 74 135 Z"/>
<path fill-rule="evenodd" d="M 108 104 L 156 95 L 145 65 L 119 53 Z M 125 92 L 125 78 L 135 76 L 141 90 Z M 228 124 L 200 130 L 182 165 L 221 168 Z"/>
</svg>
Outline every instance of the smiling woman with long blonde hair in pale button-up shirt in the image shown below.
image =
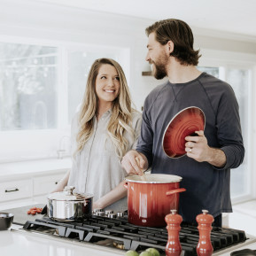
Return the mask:
<svg viewBox="0 0 256 256">
<path fill-rule="evenodd" d="M 55 191 L 72 185 L 77 192 L 94 195 L 94 208 L 126 210 L 126 172 L 120 160 L 135 149 L 141 121 L 121 66 L 111 58 L 95 60 L 72 122 L 72 169 Z"/>
</svg>

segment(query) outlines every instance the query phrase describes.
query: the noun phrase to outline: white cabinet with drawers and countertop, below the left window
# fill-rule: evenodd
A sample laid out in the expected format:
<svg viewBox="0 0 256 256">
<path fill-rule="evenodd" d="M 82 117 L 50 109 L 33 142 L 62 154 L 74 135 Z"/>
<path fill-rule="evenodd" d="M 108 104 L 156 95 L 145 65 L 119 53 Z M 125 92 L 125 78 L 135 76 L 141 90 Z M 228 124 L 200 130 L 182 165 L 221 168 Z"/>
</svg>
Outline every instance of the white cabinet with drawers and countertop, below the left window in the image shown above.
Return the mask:
<svg viewBox="0 0 256 256">
<path fill-rule="evenodd" d="M 0 208 L 46 202 L 71 163 L 71 159 L 41 159 L 0 164 Z"/>
</svg>

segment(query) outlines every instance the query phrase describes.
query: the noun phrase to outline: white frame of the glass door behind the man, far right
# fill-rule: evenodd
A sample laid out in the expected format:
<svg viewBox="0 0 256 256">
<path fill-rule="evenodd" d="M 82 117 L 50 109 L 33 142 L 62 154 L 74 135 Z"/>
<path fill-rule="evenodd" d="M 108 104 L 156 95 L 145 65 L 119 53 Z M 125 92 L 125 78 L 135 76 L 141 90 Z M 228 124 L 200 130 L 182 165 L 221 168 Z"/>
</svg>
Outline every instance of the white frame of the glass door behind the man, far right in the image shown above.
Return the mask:
<svg viewBox="0 0 256 256">
<path fill-rule="evenodd" d="M 235 68 L 240 70 L 249 71 L 249 88 L 248 88 L 248 128 L 246 131 L 243 131 L 243 134 L 247 136 L 248 145 L 245 149 L 245 156 L 248 159 L 248 177 L 247 177 L 247 193 L 242 196 L 237 196 L 231 198 L 232 204 L 238 204 L 247 200 L 256 198 L 256 189 L 255 185 L 253 186 L 253 181 L 256 179 L 256 174 L 253 171 L 255 168 L 255 163 L 253 161 L 253 154 L 256 147 L 253 147 L 253 142 L 255 141 L 255 127 L 256 121 L 253 115 L 255 115 L 253 108 L 253 97 L 255 97 L 256 90 L 253 87 L 253 84 L 256 84 L 256 56 L 244 54 L 244 53 L 234 53 L 221 50 L 202 50 L 205 53 L 202 56 L 202 59 L 199 59 L 198 66 L 209 66 L 209 67 L 220 67 L 220 79 L 226 81 L 226 70 L 228 68 Z M 253 79 L 254 77 L 254 79 Z M 232 86 L 232 85 L 231 85 Z M 232 170 L 231 170 L 232 175 Z"/>
</svg>

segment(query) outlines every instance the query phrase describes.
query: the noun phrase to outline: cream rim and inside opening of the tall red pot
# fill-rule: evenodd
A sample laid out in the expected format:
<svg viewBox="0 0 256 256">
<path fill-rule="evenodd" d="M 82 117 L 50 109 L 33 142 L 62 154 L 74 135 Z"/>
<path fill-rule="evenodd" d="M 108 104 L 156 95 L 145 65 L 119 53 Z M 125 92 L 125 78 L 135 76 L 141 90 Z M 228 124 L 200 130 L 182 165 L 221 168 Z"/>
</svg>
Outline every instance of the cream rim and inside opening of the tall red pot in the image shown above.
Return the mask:
<svg viewBox="0 0 256 256">
<path fill-rule="evenodd" d="M 172 183 L 172 182 L 181 182 L 182 177 L 177 175 L 160 175 L 160 174 L 150 174 L 144 175 L 144 180 L 140 175 L 132 175 L 126 177 L 128 182 L 137 182 L 137 183 Z"/>
</svg>

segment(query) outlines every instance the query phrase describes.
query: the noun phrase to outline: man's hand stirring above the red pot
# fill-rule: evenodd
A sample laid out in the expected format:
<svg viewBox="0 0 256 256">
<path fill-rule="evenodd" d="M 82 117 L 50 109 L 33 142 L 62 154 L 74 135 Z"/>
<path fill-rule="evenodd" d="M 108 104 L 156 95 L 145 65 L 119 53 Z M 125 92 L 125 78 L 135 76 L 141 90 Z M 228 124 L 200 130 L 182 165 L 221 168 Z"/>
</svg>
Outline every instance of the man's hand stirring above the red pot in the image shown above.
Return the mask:
<svg viewBox="0 0 256 256">
<path fill-rule="evenodd" d="M 148 168 L 148 161 L 144 154 L 131 150 L 122 158 L 121 166 L 128 175 L 143 175 L 143 170 Z"/>
</svg>

